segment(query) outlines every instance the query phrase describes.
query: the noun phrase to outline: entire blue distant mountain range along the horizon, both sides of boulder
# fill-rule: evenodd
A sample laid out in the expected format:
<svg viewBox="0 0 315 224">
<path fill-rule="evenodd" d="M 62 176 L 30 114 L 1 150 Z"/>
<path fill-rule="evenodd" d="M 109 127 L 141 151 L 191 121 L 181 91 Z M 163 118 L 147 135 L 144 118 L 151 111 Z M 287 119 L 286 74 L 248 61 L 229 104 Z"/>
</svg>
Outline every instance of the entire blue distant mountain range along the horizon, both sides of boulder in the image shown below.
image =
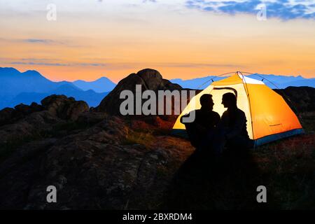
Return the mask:
<svg viewBox="0 0 315 224">
<path fill-rule="evenodd" d="M 248 77 L 262 80 L 273 89 L 277 87 L 282 89 L 288 86 L 315 87 L 315 78 L 303 78 L 302 76 L 276 76 L 256 73 Z M 226 77 L 207 76 L 190 80 L 176 78 L 170 81 L 181 85 L 183 88 L 202 90 L 213 81 L 223 78 Z M 31 104 L 31 102 L 36 102 L 39 104 L 41 99 L 51 94 L 64 94 L 67 97 L 74 97 L 76 100 L 83 100 L 89 106 L 95 107 L 99 106 L 102 99 L 114 87 L 116 87 L 116 84 L 106 77 L 92 82 L 84 80 L 53 82 L 42 76 L 38 71 L 20 72 L 14 68 L 0 67 L 0 110 L 21 103 Z"/>
</svg>

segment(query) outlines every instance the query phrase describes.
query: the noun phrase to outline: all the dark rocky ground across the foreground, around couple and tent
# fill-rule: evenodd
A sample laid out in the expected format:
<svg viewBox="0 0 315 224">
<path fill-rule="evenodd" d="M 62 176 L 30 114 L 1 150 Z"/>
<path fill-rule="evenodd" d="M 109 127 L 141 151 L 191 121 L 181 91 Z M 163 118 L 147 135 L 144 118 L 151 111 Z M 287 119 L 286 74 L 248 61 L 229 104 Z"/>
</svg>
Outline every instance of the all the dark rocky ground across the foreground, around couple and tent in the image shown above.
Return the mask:
<svg viewBox="0 0 315 224">
<path fill-rule="evenodd" d="M 170 134 L 172 116 L 122 118 L 104 109 L 110 104 L 89 109 L 52 95 L 0 111 L 0 209 L 253 209 L 240 200 L 247 187 L 238 188 L 253 175 L 272 189 L 267 208 L 315 208 L 314 112 L 302 114 L 304 136 L 251 151 L 248 173 L 233 160 L 200 158 Z M 57 187 L 57 203 L 46 202 L 48 186 Z"/>
</svg>

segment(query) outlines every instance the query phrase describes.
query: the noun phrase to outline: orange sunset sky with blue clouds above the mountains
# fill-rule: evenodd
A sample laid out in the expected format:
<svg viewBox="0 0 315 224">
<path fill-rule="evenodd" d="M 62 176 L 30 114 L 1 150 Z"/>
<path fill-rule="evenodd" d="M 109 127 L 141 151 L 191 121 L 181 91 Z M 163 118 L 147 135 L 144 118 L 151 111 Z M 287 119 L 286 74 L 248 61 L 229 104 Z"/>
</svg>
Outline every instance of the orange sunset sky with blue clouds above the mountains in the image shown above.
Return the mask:
<svg viewBox="0 0 315 224">
<path fill-rule="evenodd" d="M 1 0 L 0 34 L 0 66 L 51 80 L 118 82 L 145 68 L 315 77 L 314 0 Z"/>
</svg>

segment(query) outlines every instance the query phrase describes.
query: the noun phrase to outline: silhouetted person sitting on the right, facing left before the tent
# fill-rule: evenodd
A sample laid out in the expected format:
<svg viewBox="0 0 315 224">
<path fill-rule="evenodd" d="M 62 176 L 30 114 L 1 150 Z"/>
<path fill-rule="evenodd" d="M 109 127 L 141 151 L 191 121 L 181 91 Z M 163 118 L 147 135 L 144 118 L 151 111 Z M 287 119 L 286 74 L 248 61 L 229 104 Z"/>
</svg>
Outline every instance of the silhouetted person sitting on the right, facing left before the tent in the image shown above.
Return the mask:
<svg viewBox="0 0 315 224">
<path fill-rule="evenodd" d="M 228 108 L 221 117 L 220 127 L 223 129 L 223 139 L 228 148 L 248 149 L 253 146 L 249 139 L 246 116 L 237 108 L 237 98 L 232 92 L 223 94 L 222 104 Z"/>
</svg>

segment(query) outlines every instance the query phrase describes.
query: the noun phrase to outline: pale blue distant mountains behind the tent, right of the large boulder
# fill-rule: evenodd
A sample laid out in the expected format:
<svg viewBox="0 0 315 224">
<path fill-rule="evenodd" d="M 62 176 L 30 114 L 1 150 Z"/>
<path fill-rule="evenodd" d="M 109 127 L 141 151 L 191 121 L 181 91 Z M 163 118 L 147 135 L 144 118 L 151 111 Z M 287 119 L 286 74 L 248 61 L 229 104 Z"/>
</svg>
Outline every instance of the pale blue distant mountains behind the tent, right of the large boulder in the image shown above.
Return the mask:
<svg viewBox="0 0 315 224">
<path fill-rule="evenodd" d="M 276 76 L 276 75 L 265 75 L 265 74 L 252 74 L 248 76 L 249 78 L 254 78 L 257 80 L 262 80 L 267 86 L 272 89 L 280 88 L 284 89 L 289 86 L 309 86 L 315 87 L 315 78 L 303 78 L 302 76 Z M 172 83 L 181 85 L 184 88 L 199 89 L 202 90 L 213 81 L 221 80 L 225 77 L 217 76 L 207 76 L 203 78 L 193 78 L 188 80 L 182 80 L 181 78 L 176 78 L 170 80 Z"/>
</svg>

